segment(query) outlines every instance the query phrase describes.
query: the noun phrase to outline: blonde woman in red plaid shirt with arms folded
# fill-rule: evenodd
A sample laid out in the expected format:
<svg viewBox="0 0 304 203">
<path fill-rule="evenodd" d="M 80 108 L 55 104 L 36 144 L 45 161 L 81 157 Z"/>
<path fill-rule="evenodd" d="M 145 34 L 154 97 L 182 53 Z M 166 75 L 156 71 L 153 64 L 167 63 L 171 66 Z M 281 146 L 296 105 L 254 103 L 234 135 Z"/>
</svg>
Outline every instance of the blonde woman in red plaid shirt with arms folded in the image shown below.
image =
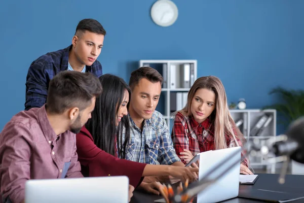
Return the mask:
<svg viewBox="0 0 304 203">
<path fill-rule="evenodd" d="M 184 164 L 200 152 L 243 146 L 245 138 L 231 117 L 224 86 L 217 77 L 195 81 L 186 106 L 175 113 L 171 136 Z M 242 159 L 240 168 L 241 174 L 253 174 L 247 159 Z"/>
</svg>

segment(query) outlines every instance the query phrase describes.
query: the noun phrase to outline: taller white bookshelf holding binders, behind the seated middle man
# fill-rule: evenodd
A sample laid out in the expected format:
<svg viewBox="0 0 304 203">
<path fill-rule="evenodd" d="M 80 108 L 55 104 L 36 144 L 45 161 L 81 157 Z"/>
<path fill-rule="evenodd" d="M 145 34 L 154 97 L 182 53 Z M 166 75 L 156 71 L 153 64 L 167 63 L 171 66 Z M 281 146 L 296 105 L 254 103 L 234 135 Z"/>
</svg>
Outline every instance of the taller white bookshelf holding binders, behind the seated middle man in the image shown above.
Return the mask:
<svg viewBox="0 0 304 203">
<path fill-rule="evenodd" d="M 197 65 L 198 65 L 198 62 L 197 60 L 140 60 L 139 61 L 139 67 L 142 67 L 142 66 L 146 66 L 146 65 L 149 65 L 153 68 L 155 64 L 158 64 L 158 65 L 162 65 L 162 64 L 167 64 L 167 71 L 164 72 L 163 68 L 161 68 L 161 70 L 158 70 L 160 72 L 160 74 L 162 74 L 162 76 L 164 77 L 164 81 L 167 81 L 167 87 L 166 88 L 162 88 L 162 93 L 165 94 L 165 104 L 164 104 L 164 107 L 165 107 L 165 113 L 164 113 L 164 117 L 167 121 L 167 125 L 168 125 L 168 128 L 169 130 L 171 129 L 170 128 L 170 119 L 172 119 L 170 117 L 170 110 L 171 110 L 171 107 L 170 107 L 170 93 L 171 92 L 188 92 L 189 89 L 190 89 L 190 86 L 188 88 L 183 88 L 181 87 L 181 85 L 176 85 L 175 88 L 171 88 L 171 78 L 170 78 L 170 75 L 171 75 L 171 67 L 172 69 L 175 68 L 176 70 L 176 78 L 179 78 L 179 73 L 180 73 L 180 70 L 182 68 L 182 66 L 184 64 L 192 64 L 193 65 L 193 69 L 194 69 L 194 81 L 197 79 Z M 172 65 L 172 66 L 171 66 Z M 178 81 L 177 81 L 178 83 Z M 161 104 L 158 104 L 158 105 L 161 105 Z"/>
</svg>

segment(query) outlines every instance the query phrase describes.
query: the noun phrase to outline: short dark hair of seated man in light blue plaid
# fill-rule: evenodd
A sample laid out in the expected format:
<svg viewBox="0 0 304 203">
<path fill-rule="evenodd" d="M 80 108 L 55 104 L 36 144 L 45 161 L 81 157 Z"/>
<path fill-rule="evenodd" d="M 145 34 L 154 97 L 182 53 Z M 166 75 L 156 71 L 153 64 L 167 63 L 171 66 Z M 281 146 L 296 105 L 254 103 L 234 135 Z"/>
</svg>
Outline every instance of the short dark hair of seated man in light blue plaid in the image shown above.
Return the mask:
<svg viewBox="0 0 304 203">
<path fill-rule="evenodd" d="M 152 83 L 160 82 L 161 85 L 163 84 L 163 80 L 164 80 L 163 76 L 152 67 L 148 67 L 148 66 L 140 67 L 139 69 L 136 69 L 131 73 L 129 86 L 131 87 L 132 90 L 142 78 L 145 78 Z"/>
</svg>

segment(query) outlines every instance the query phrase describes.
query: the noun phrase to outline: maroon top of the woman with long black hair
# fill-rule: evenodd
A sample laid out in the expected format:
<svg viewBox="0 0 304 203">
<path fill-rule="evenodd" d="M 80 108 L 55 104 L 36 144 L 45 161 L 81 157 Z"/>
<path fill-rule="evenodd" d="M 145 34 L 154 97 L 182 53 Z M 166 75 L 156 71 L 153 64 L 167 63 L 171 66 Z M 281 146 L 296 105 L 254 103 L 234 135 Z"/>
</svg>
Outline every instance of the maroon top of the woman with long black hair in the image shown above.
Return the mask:
<svg viewBox="0 0 304 203">
<path fill-rule="evenodd" d="M 91 133 L 85 127 L 76 138 L 78 160 L 84 174 L 88 172 L 90 177 L 128 176 L 131 185 L 136 187 L 140 184 L 145 163 L 120 159 L 106 153 L 94 144 Z"/>
</svg>

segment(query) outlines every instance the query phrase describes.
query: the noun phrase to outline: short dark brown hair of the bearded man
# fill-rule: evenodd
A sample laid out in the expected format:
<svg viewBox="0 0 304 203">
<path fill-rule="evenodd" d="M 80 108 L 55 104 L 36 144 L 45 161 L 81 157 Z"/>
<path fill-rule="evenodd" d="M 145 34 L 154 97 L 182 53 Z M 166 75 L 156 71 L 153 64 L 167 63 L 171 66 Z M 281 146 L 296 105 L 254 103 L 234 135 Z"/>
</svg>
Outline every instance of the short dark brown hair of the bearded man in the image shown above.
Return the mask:
<svg viewBox="0 0 304 203">
<path fill-rule="evenodd" d="M 98 78 L 92 73 L 62 71 L 49 83 L 47 110 L 61 114 L 69 108 L 80 111 L 91 105 L 91 99 L 102 93 Z"/>
</svg>

